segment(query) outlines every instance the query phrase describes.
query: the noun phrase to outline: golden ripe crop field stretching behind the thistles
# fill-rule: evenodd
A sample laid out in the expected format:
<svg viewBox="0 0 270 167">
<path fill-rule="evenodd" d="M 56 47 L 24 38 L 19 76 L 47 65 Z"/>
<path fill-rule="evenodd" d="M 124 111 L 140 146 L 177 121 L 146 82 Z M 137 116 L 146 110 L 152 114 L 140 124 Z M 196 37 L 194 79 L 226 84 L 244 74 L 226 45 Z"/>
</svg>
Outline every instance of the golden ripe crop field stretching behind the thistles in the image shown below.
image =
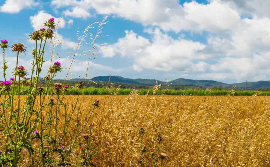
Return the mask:
<svg viewBox="0 0 270 167">
<path fill-rule="evenodd" d="M 40 107 L 38 97 L 36 110 Z M 24 106 L 26 96 L 20 98 Z M 58 127 L 64 127 L 63 115 L 65 112 L 70 115 L 76 98 L 64 97 L 67 105 L 57 109 Z M 82 135 L 76 136 L 79 127 L 87 121 L 95 99 L 100 106 L 94 110 Z M 157 151 L 156 166 L 161 166 L 161 158 L 162 166 L 168 167 L 269 166 L 269 104 L 268 97 L 256 95 L 139 96 L 135 92 L 129 96 L 79 96 L 76 117 L 70 120 L 61 145 L 66 149 L 74 138 L 79 138 L 66 159 L 72 166 L 82 166 L 86 154 L 94 157 L 88 161 L 89 166 L 155 166 Z M 43 120 L 48 120 L 49 112 L 50 107 L 43 108 Z M 51 131 L 45 127 L 43 135 L 51 133 L 61 138 L 64 132 L 59 128 L 55 133 L 55 120 L 51 122 Z M 37 125 L 40 133 L 40 124 Z M 5 126 L 3 120 L 1 126 Z M 144 133 L 139 133 L 140 128 Z M 1 136 L 1 143 L 5 143 L 5 136 Z M 33 157 L 27 156 L 24 149 L 18 164 L 30 166 L 35 156 L 38 157 L 40 143 L 39 139 L 33 139 L 31 144 L 36 150 Z M 1 147 L 4 151 L 5 146 Z M 145 147 L 144 151 L 141 147 Z M 55 164 L 61 160 L 58 153 L 52 156 Z M 35 165 L 39 166 L 41 161 L 35 160 Z"/>
</svg>

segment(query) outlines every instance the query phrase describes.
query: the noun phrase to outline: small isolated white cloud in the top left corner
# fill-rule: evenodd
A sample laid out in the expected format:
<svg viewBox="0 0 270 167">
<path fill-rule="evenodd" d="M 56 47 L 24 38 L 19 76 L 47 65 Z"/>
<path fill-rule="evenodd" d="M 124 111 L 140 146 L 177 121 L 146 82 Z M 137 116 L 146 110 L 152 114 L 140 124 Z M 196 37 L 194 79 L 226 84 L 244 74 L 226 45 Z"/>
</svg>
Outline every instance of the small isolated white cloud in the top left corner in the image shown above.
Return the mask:
<svg viewBox="0 0 270 167">
<path fill-rule="evenodd" d="M 38 4 L 35 0 L 6 0 L 0 7 L 0 11 L 4 13 L 19 13 L 24 8 L 37 6 Z"/>
</svg>

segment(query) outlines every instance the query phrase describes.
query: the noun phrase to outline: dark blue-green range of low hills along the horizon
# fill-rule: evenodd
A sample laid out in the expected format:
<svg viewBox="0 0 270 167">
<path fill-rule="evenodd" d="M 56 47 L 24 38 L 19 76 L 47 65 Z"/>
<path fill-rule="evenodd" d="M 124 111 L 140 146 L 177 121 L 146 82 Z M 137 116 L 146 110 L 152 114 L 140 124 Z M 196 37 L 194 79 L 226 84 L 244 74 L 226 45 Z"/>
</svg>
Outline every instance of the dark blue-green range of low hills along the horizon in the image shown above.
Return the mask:
<svg viewBox="0 0 270 167">
<path fill-rule="evenodd" d="M 160 83 L 161 85 L 166 85 L 166 82 L 159 81 L 155 79 L 129 79 L 123 78 L 121 76 L 97 76 L 92 78 L 95 82 L 110 82 L 114 83 L 128 83 L 128 84 L 135 84 L 135 85 L 147 85 L 147 86 L 154 86 L 156 82 Z M 69 81 L 82 81 L 84 79 L 70 79 Z M 220 87 L 220 88 L 232 88 L 234 84 L 226 84 L 223 82 L 213 81 L 213 80 L 193 80 L 193 79 L 184 79 L 179 78 L 172 80 L 168 83 L 170 86 L 196 86 L 200 88 L 213 88 L 213 87 Z M 236 87 L 239 89 L 251 89 L 256 90 L 259 88 L 270 87 L 270 81 L 257 81 L 257 82 L 242 82 L 237 83 Z"/>
</svg>

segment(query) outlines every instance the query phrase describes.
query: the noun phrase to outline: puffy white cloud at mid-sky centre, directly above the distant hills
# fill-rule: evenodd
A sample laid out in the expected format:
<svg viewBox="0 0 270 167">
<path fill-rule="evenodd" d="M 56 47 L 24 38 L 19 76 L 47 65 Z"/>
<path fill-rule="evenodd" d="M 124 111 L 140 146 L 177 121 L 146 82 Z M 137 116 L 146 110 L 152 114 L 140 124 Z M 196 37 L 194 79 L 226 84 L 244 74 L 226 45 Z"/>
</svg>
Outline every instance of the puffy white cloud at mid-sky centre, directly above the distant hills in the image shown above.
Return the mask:
<svg viewBox="0 0 270 167">
<path fill-rule="evenodd" d="M 205 46 L 190 40 L 174 40 L 166 34 L 155 29 L 152 33 L 152 43 L 148 39 L 137 35 L 133 31 L 125 31 L 126 36 L 119 38 L 117 43 L 102 47 L 104 57 L 115 55 L 127 56 L 134 60 L 134 70 L 141 71 L 142 68 L 161 71 L 184 71 L 193 65 L 191 60 L 196 58 L 196 51 Z M 107 48 L 107 49 L 104 49 Z M 199 71 L 205 68 L 203 63 L 198 64 Z"/>
</svg>

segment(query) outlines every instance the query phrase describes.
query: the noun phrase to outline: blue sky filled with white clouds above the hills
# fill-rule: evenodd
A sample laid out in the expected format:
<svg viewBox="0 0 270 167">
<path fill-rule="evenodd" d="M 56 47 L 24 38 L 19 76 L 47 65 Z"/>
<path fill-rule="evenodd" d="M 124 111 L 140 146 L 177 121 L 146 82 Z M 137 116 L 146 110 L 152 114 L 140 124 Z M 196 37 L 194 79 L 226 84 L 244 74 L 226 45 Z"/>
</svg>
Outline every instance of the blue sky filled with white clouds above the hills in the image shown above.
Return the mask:
<svg viewBox="0 0 270 167">
<path fill-rule="evenodd" d="M 66 77 L 71 63 L 68 78 L 86 76 L 94 53 L 87 72 L 92 78 L 270 80 L 269 6 L 270 0 L 2 0 L 0 38 L 27 47 L 19 65 L 30 73 L 35 42 L 28 35 L 51 17 L 61 20 L 53 61 L 60 61 L 63 71 L 56 79 Z M 91 25 L 106 16 L 106 24 Z M 93 35 L 85 35 L 72 61 L 88 25 Z M 97 51 L 90 53 L 97 32 Z M 41 76 L 50 66 L 51 47 L 45 48 Z M 15 53 L 7 50 L 5 61 L 11 77 Z"/>
</svg>

